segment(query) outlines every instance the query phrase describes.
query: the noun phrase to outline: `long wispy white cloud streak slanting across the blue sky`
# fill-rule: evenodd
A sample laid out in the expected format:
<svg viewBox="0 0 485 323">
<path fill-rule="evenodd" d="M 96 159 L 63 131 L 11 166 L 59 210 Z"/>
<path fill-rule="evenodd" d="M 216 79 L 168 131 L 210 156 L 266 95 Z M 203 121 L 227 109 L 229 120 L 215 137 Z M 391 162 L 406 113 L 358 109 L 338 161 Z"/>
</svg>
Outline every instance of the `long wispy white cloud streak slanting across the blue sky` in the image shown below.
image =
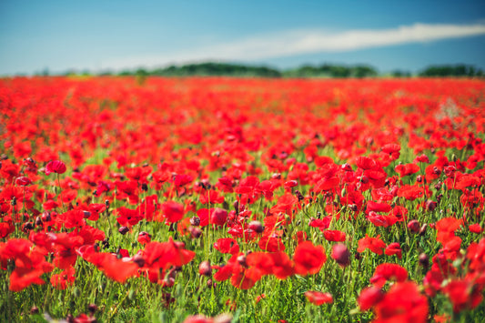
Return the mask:
<svg viewBox="0 0 485 323">
<path fill-rule="evenodd" d="M 348 52 L 364 48 L 426 43 L 450 38 L 485 35 L 485 24 L 402 25 L 390 29 L 344 32 L 289 30 L 251 36 L 228 43 L 192 48 L 184 52 L 112 60 L 103 67 L 164 66 L 204 60 L 255 61 L 312 53 Z"/>
</svg>

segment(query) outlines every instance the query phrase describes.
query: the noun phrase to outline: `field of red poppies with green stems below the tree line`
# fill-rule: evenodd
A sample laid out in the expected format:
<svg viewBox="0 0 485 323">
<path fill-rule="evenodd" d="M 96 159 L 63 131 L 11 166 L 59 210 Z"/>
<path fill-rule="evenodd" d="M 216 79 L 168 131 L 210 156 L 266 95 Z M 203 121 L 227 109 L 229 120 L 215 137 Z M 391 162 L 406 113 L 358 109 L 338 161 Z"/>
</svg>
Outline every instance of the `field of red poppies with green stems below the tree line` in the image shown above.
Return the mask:
<svg viewBox="0 0 485 323">
<path fill-rule="evenodd" d="M 479 322 L 485 82 L 0 79 L 0 321 Z"/>
</svg>

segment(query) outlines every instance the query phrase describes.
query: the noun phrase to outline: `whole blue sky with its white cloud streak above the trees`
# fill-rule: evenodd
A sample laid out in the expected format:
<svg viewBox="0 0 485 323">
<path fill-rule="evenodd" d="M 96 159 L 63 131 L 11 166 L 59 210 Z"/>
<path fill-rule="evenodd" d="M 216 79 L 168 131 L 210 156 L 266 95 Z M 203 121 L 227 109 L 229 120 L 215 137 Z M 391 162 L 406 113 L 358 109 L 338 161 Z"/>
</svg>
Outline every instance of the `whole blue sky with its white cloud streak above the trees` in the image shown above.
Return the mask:
<svg viewBox="0 0 485 323">
<path fill-rule="evenodd" d="M 485 69 L 485 2 L 0 0 L 0 75 L 205 60 Z"/>
</svg>

